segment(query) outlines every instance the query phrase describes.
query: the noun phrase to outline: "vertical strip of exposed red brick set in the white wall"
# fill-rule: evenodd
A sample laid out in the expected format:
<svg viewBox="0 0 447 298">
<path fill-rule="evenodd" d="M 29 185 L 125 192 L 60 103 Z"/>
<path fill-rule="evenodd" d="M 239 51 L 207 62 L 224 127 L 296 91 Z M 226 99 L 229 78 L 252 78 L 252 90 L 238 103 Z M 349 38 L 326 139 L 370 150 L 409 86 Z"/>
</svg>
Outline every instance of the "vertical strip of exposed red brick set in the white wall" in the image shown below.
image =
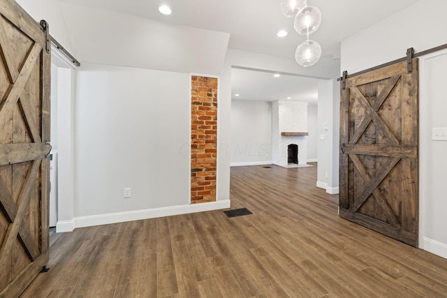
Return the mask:
<svg viewBox="0 0 447 298">
<path fill-rule="evenodd" d="M 191 77 L 191 203 L 216 200 L 217 79 Z"/>
</svg>

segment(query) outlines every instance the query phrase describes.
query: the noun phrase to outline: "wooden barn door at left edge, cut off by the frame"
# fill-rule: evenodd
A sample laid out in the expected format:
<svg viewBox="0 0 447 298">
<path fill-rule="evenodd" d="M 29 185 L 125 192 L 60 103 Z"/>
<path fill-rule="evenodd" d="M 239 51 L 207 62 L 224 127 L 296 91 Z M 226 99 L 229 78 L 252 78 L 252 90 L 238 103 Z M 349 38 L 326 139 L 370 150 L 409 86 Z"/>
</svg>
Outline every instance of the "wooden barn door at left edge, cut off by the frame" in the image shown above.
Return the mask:
<svg viewBox="0 0 447 298">
<path fill-rule="evenodd" d="M 50 53 L 41 26 L 0 0 L 0 297 L 48 261 Z"/>
</svg>

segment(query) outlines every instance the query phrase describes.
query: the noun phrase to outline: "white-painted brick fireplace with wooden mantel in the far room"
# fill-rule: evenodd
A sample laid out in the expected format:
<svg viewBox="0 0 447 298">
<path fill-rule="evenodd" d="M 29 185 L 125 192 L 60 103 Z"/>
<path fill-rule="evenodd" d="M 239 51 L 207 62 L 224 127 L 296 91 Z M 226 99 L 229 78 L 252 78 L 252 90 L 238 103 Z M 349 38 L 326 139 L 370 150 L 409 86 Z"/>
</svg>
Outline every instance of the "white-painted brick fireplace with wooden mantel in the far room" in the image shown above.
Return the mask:
<svg viewBox="0 0 447 298">
<path fill-rule="evenodd" d="M 307 103 L 279 100 L 272 103 L 272 163 L 281 167 L 307 164 L 307 136 L 281 133 L 307 133 Z M 298 165 L 288 163 L 288 145 L 298 144 Z"/>
</svg>

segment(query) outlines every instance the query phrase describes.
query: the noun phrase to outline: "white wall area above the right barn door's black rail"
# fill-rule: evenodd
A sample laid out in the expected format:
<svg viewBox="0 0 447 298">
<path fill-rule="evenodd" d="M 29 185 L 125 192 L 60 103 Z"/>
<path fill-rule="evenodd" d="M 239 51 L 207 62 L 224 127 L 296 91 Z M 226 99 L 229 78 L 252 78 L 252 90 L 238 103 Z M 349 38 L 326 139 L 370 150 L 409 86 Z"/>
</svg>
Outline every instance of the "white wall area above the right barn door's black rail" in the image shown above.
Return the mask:
<svg viewBox="0 0 447 298">
<path fill-rule="evenodd" d="M 447 1 L 420 0 L 342 41 L 342 71 L 360 70 L 444 45 Z M 341 75 L 341 73 L 340 73 Z"/>
</svg>

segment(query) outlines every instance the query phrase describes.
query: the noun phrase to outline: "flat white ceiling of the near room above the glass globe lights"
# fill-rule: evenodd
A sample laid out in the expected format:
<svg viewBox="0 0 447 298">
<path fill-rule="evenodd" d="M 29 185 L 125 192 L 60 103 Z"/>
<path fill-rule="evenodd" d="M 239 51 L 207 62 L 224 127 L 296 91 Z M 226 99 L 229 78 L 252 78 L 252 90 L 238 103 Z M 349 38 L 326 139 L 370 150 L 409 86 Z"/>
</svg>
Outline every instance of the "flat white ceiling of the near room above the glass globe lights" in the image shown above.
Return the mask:
<svg viewBox="0 0 447 298">
<path fill-rule="evenodd" d="M 59 0 L 113 10 L 150 20 L 230 33 L 228 47 L 293 59 L 305 40 L 293 29 L 293 19 L 279 10 L 279 0 Z M 311 36 L 323 55 L 339 54 L 339 43 L 354 33 L 393 15 L 418 0 L 309 0 L 323 15 L 321 27 Z M 161 15 L 167 3 L 172 15 Z M 81 17 L 81 16 L 80 16 Z M 286 29 L 285 38 L 276 33 Z"/>
</svg>

